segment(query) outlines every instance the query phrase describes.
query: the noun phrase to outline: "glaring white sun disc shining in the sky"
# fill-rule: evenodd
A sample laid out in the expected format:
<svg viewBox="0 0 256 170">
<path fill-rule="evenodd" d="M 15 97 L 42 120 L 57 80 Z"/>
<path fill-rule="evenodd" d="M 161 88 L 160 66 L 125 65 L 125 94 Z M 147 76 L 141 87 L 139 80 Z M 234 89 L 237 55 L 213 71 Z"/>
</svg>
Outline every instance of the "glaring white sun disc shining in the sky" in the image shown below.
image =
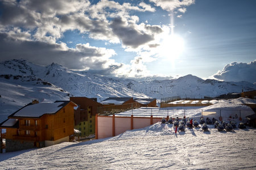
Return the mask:
<svg viewBox="0 0 256 170">
<path fill-rule="evenodd" d="M 162 39 L 159 50 L 160 57 L 173 61 L 183 53 L 184 40 L 179 35 L 168 35 Z"/>
</svg>

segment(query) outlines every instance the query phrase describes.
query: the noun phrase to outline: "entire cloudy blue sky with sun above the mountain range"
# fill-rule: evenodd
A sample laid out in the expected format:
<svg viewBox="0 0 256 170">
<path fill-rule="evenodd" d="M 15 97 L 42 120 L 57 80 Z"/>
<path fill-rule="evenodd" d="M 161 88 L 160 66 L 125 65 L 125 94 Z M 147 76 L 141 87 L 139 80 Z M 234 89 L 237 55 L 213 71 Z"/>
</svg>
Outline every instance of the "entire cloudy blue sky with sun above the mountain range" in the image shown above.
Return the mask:
<svg viewBox="0 0 256 170">
<path fill-rule="evenodd" d="M 0 62 L 256 82 L 254 0 L 0 0 Z"/>
</svg>

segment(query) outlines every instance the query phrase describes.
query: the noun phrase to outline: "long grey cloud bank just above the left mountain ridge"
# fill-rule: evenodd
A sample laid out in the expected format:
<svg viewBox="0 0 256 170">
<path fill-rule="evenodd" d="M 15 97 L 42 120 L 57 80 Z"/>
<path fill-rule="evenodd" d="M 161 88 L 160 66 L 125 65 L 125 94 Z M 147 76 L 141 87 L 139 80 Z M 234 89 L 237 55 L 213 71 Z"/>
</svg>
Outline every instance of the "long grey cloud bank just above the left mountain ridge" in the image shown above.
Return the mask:
<svg viewBox="0 0 256 170">
<path fill-rule="evenodd" d="M 65 44 L 49 44 L 41 41 L 21 41 L 0 33 L 1 61 L 10 58 L 24 58 L 38 65 L 59 63 L 68 69 L 104 70 L 112 65 L 120 65 L 110 59 L 114 50 L 97 48 L 89 44 L 77 44 L 76 48 L 68 48 Z"/>
</svg>

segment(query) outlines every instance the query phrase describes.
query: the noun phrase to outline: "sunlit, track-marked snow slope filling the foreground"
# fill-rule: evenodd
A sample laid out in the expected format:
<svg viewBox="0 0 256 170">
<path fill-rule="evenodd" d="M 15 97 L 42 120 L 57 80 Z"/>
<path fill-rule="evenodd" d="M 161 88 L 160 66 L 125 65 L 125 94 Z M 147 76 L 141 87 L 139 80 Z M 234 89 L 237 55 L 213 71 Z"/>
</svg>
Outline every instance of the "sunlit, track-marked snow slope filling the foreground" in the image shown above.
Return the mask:
<svg viewBox="0 0 256 170">
<path fill-rule="evenodd" d="M 113 138 L 0 154 L 0 169 L 255 169 L 255 142 L 256 129 L 210 125 L 175 134 L 158 122 Z"/>
</svg>

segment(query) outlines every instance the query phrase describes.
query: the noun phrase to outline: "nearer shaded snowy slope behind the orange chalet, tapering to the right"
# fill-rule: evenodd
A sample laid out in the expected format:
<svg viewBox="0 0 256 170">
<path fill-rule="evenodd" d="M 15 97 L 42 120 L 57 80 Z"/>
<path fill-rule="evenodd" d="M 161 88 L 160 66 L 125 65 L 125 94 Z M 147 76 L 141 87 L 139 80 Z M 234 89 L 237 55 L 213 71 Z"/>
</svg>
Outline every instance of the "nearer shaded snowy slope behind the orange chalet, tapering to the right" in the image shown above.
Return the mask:
<svg viewBox="0 0 256 170">
<path fill-rule="evenodd" d="M 67 91 L 35 76 L 0 76 L 0 95 L 0 122 L 33 99 L 69 100 Z"/>
</svg>

